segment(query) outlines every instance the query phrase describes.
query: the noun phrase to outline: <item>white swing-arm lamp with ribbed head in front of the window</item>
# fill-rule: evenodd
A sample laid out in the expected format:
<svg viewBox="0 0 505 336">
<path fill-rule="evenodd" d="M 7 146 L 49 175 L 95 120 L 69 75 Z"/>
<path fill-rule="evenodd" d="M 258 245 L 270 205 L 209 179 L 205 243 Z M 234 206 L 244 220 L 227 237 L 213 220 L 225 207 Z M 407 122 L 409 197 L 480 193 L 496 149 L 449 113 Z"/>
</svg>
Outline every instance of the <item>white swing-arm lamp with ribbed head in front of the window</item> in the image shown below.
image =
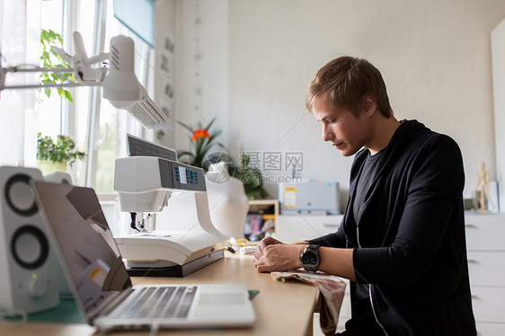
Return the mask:
<svg viewBox="0 0 505 336">
<path fill-rule="evenodd" d="M 146 88 L 137 80 L 133 69 L 135 65 L 135 48 L 131 38 L 116 36 L 111 39 L 109 53 L 87 57 L 81 34 L 74 31 L 75 56 L 71 57 L 65 50 L 53 49 L 63 57 L 70 68 L 23 68 L 22 66 L 1 67 L 0 91 L 4 89 L 30 89 L 73 86 L 103 86 L 103 97 L 118 109 L 127 110 L 144 127 L 151 129 L 173 128 L 171 121 L 147 94 Z M 110 67 L 92 67 L 105 59 L 110 60 Z M 0 59 L 1 61 L 1 59 Z M 5 85 L 8 73 L 20 72 L 53 72 L 73 73 L 74 82 L 63 84 L 23 84 Z"/>
</svg>

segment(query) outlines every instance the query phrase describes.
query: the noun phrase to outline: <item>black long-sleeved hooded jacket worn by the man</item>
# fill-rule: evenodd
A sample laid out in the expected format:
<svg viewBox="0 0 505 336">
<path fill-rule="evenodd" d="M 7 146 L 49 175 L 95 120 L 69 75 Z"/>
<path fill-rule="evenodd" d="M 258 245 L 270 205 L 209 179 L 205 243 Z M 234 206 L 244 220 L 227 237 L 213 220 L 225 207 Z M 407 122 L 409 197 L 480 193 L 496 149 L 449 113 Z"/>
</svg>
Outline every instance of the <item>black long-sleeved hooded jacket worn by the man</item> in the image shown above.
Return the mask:
<svg viewBox="0 0 505 336">
<path fill-rule="evenodd" d="M 363 300 L 370 302 L 357 294 L 371 291 L 388 335 L 476 335 L 459 147 L 416 120 L 404 120 L 384 151 L 358 218 L 352 208 L 368 149 L 355 155 L 339 230 L 310 243 L 354 248 L 353 314 L 362 311 L 356 305 Z"/>
</svg>

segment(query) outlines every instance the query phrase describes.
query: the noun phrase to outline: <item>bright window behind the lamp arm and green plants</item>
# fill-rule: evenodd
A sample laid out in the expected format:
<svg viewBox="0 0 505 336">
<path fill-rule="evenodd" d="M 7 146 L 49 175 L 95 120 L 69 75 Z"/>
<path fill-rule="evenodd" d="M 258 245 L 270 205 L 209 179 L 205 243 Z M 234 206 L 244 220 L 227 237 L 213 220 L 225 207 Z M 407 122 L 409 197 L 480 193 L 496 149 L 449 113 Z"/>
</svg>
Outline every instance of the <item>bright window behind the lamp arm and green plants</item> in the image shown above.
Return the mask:
<svg viewBox="0 0 505 336">
<path fill-rule="evenodd" d="M 64 40 L 63 49 L 70 55 L 75 54 L 73 31 L 79 31 L 88 57 L 108 51 L 111 38 L 122 34 L 134 40 L 137 79 L 152 93 L 153 67 L 149 65 L 154 64 L 154 52 L 114 18 L 112 0 L 0 0 L 1 4 L 4 5 L 4 12 L 0 14 L 2 66 L 6 66 L 7 59 L 8 66 L 39 65 L 40 29 L 60 33 Z M 14 40 L 12 44 L 11 40 Z M 39 48 L 32 50 L 32 46 Z M 152 138 L 154 132 L 142 128 L 127 111 L 113 108 L 102 99 L 99 87 L 68 90 L 74 103 L 60 99 L 56 90 L 50 98 L 39 90 L 5 90 L 1 93 L 0 164 L 35 166 L 38 132 L 51 137 L 58 134 L 73 137 L 76 146 L 87 155 L 84 162 L 76 162 L 70 168 L 74 184 L 97 191 L 105 213 L 109 214 L 107 219 L 112 231 L 122 234 L 126 232 L 128 222 L 114 200 L 115 159 L 127 155 L 127 133 Z"/>
</svg>

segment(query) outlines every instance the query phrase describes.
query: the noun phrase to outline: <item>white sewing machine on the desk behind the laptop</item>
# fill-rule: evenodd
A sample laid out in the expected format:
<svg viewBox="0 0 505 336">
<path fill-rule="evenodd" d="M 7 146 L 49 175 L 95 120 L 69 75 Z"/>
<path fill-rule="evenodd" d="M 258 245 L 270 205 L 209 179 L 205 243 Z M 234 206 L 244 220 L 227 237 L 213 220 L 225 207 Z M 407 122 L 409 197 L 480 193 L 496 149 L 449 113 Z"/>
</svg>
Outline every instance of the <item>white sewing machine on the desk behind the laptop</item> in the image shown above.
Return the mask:
<svg viewBox="0 0 505 336">
<path fill-rule="evenodd" d="M 210 219 L 202 169 L 162 157 L 121 157 L 116 159 L 114 190 L 120 210 L 131 213 L 131 226 L 140 231 L 116 237 L 130 275 L 183 277 L 223 258 L 217 244 L 229 237 Z M 165 208 L 178 223 L 155 230 L 155 213 Z"/>
</svg>

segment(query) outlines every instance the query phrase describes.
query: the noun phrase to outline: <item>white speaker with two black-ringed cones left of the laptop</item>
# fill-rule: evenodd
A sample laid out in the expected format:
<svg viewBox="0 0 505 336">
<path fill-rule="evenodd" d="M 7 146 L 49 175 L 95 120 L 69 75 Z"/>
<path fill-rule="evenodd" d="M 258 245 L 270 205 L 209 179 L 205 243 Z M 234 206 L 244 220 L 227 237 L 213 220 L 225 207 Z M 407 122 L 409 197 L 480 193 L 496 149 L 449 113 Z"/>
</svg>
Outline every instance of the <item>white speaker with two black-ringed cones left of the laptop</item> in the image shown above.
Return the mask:
<svg viewBox="0 0 505 336">
<path fill-rule="evenodd" d="M 0 167 L 0 309 L 26 314 L 59 303 L 57 258 L 31 191 L 36 168 Z"/>
</svg>

